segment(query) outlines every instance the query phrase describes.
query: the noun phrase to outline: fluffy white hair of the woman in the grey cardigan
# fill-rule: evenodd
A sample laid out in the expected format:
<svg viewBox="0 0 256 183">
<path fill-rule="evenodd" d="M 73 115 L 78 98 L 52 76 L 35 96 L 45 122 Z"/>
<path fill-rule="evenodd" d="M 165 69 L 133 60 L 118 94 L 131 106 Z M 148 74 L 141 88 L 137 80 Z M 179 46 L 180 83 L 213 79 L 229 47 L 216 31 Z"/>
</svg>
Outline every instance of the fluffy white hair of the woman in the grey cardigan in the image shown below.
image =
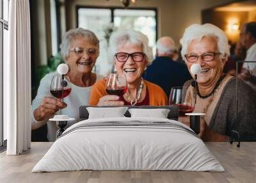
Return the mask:
<svg viewBox="0 0 256 183">
<path fill-rule="evenodd" d="M 228 45 L 228 39 L 224 31 L 212 24 L 192 24 L 185 29 L 184 35 L 180 39 L 182 45 L 181 55 L 183 60 L 187 61 L 185 54 L 188 54 L 188 46 L 193 40 L 202 40 L 205 36 L 216 38 L 218 42 L 218 51 L 221 53 L 221 58 L 224 61 L 228 60 L 230 55 L 230 46 Z"/>
</svg>

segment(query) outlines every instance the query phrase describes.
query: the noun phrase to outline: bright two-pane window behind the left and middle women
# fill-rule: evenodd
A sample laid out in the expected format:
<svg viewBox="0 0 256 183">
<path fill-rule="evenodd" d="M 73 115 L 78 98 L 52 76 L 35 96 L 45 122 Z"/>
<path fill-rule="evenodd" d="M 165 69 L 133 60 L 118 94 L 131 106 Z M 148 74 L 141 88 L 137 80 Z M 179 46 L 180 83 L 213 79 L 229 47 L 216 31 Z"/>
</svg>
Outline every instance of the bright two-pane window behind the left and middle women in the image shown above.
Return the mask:
<svg viewBox="0 0 256 183">
<path fill-rule="evenodd" d="M 100 13 L 99 13 L 100 12 Z M 100 56 L 97 59 L 95 71 L 106 74 L 111 71 L 112 61 L 108 58 L 109 29 L 132 28 L 148 36 L 153 54 L 156 52 L 157 38 L 156 9 L 123 9 L 123 8 L 92 8 L 77 6 L 77 27 L 90 29 L 100 40 Z"/>
</svg>

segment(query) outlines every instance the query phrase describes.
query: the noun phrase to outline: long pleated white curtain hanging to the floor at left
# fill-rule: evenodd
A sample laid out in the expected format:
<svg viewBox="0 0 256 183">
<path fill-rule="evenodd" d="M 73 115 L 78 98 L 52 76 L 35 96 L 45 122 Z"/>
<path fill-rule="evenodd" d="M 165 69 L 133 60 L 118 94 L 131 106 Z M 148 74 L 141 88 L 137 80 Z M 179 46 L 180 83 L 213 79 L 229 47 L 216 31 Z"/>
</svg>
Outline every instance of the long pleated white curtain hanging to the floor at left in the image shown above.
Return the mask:
<svg viewBox="0 0 256 183">
<path fill-rule="evenodd" d="M 4 120 L 8 155 L 21 154 L 31 144 L 31 58 L 29 0 L 11 0 L 8 60 L 4 62 Z"/>
</svg>

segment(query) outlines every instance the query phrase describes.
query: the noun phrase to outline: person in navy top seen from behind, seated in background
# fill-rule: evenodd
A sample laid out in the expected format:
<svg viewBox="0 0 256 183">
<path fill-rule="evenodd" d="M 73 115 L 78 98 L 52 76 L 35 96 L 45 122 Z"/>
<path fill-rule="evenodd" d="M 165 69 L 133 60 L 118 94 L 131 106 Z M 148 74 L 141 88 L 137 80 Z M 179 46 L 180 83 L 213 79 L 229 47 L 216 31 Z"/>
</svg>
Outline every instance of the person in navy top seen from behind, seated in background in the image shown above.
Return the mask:
<svg viewBox="0 0 256 183">
<path fill-rule="evenodd" d="M 173 60 L 174 58 L 177 60 L 173 39 L 168 36 L 159 38 L 156 44 L 156 58 L 143 76 L 147 81 L 161 86 L 168 97 L 172 87 L 183 86 L 191 79 L 186 65 Z"/>
</svg>

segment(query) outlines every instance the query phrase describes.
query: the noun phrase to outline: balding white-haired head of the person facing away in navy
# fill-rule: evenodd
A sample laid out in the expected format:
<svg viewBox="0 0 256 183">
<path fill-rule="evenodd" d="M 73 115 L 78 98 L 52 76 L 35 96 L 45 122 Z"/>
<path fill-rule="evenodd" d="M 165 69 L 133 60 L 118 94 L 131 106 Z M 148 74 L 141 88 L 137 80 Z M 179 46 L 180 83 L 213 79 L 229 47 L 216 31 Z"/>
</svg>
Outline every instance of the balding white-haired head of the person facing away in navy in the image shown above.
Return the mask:
<svg viewBox="0 0 256 183">
<path fill-rule="evenodd" d="M 164 36 L 157 40 L 156 49 L 157 52 L 161 54 L 173 54 L 175 51 L 175 43 L 171 37 Z"/>
</svg>

